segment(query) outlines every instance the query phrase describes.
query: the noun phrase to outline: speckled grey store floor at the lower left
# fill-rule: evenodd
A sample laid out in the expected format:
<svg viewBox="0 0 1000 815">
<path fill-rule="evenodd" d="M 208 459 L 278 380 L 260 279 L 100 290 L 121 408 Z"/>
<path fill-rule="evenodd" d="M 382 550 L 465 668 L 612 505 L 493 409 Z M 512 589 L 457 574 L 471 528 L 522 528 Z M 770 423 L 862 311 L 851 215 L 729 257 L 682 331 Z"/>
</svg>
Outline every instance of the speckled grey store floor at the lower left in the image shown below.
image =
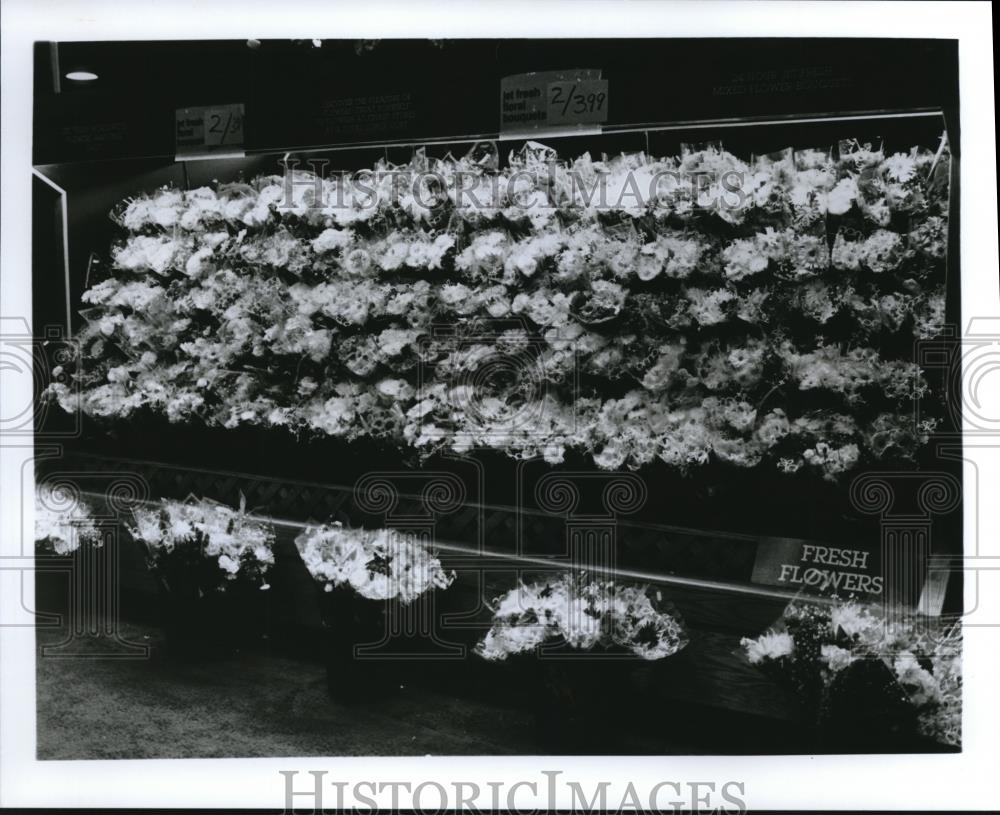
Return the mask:
<svg viewBox="0 0 1000 815">
<path fill-rule="evenodd" d="M 126 624 L 149 659 L 94 657 L 106 641 L 74 640 L 80 658 L 37 659 L 38 758 L 223 758 L 364 755 L 531 755 L 543 752 L 520 709 L 403 688 L 344 705 L 322 665 L 266 653 L 182 663 L 158 658 L 158 629 Z M 39 646 L 59 643 L 39 630 Z M 86 658 L 90 654 L 92 658 Z M 684 753 L 682 744 L 637 745 Z M 644 749 L 643 749 L 644 748 Z"/>
</svg>

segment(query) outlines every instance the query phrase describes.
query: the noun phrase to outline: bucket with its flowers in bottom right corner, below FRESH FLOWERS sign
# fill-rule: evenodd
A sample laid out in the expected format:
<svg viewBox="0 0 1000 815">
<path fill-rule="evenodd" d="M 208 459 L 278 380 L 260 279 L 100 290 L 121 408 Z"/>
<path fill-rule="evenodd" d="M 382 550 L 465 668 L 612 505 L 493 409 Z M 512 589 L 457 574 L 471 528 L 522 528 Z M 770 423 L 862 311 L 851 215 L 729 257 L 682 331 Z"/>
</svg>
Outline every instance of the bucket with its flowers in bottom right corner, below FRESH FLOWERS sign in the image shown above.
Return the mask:
<svg viewBox="0 0 1000 815">
<path fill-rule="evenodd" d="M 961 745 L 961 629 L 856 601 L 793 602 L 746 658 L 789 685 L 815 749 L 949 750 Z"/>
</svg>

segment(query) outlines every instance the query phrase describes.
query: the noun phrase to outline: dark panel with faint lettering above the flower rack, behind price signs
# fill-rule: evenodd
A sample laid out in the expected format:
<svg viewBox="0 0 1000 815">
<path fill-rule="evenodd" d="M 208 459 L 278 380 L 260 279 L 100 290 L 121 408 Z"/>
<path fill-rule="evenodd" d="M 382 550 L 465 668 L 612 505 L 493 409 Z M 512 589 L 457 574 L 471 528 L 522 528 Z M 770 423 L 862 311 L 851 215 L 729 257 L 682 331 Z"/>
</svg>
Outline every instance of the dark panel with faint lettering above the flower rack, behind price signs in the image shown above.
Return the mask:
<svg viewBox="0 0 1000 815">
<path fill-rule="evenodd" d="M 489 135 L 500 78 L 550 69 L 600 68 L 609 125 L 947 111 L 957 54 L 947 40 L 39 43 L 34 160 L 172 156 L 176 108 L 235 102 L 253 151 Z M 65 79 L 75 70 L 98 78 Z"/>
</svg>

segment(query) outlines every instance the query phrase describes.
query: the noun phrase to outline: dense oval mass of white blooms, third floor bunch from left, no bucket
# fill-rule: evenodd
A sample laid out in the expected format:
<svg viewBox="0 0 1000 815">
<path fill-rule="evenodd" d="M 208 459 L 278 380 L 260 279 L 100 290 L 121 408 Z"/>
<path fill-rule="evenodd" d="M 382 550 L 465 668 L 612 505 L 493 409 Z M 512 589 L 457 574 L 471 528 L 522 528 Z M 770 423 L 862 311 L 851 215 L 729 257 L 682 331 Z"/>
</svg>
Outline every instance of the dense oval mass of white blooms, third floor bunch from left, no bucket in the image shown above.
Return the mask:
<svg viewBox="0 0 1000 815">
<path fill-rule="evenodd" d="M 343 586 L 369 600 L 411 603 L 455 580 L 455 573 L 442 567 L 427 544 L 393 529 L 350 529 L 334 523 L 306 529 L 295 543 L 325 591 Z"/>
</svg>

